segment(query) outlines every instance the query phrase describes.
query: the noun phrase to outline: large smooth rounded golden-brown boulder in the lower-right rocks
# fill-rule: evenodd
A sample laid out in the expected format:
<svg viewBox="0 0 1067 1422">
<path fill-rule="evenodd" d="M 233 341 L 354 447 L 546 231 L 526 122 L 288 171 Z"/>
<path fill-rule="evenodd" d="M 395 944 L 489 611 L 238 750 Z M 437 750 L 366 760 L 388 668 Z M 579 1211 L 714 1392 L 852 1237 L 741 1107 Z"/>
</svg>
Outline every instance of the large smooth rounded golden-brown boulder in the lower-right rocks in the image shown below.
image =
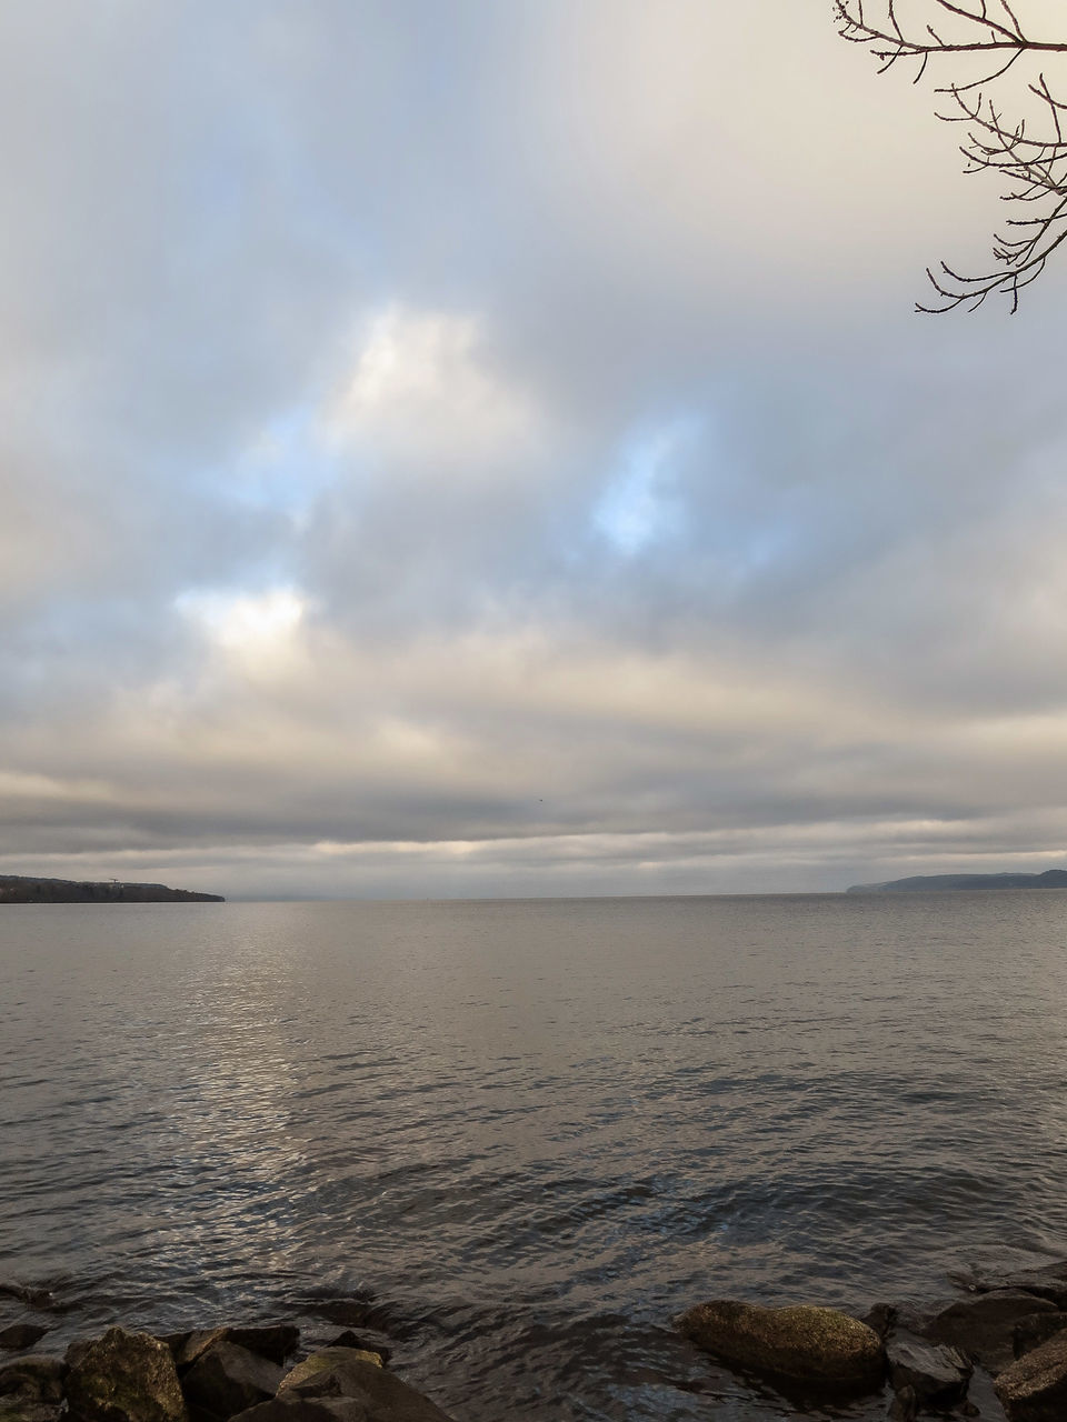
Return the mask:
<svg viewBox="0 0 1067 1422">
<path fill-rule="evenodd" d="M 869 1389 L 885 1376 L 878 1334 L 835 1308 L 760 1308 L 734 1300 L 697 1304 L 681 1332 L 723 1362 L 824 1388 Z"/>
</svg>

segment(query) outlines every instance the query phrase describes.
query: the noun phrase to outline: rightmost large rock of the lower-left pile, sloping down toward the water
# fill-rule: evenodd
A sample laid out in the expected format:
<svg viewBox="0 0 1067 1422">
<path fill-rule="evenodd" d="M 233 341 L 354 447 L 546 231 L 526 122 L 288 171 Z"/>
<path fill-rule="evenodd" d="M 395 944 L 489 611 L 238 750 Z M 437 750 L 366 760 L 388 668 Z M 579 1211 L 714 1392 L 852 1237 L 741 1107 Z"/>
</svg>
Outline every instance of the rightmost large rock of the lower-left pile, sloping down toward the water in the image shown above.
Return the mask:
<svg viewBox="0 0 1067 1422">
<path fill-rule="evenodd" d="M 299 1362 L 282 1379 L 277 1398 L 265 1408 L 253 1408 L 240 1422 L 314 1422 L 313 1418 L 299 1419 L 282 1412 L 290 1402 L 356 1402 L 363 1406 L 363 1416 L 356 1413 L 351 1422 L 448 1422 L 437 1404 L 415 1392 L 394 1374 L 378 1365 L 376 1354 L 364 1354 L 356 1348 L 323 1348 Z M 347 1413 L 346 1413 L 347 1418 Z"/>
</svg>

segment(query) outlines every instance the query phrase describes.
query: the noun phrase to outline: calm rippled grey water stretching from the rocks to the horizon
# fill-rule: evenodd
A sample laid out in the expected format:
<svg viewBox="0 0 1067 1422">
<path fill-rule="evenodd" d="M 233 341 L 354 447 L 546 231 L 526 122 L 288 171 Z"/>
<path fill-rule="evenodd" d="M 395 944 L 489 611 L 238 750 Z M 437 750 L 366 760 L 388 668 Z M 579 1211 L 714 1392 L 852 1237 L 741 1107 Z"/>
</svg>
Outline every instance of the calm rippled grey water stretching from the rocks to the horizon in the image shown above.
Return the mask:
<svg viewBox="0 0 1067 1422">
<path fill-rule="evenodd" d="M 363 1290 L 465 1422 L 784 1418 L 671 1315 L 1067 1256 L 1067 893 L 9 906 L 0 1081 L 54 1345 Z"/>
</svg>

